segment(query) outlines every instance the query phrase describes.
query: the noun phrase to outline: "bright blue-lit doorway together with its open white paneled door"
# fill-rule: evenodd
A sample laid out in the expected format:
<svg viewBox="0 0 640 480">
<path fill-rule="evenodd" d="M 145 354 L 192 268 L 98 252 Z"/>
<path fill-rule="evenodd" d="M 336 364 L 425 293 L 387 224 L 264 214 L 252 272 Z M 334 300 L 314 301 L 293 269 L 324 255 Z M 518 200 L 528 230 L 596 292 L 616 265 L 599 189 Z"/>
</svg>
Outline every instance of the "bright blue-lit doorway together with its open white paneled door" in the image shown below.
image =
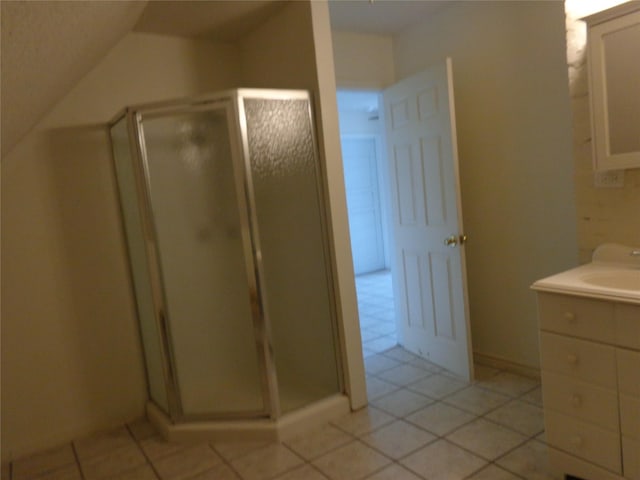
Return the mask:
<svg viewBox="0 0 640 480">
<path fill-rule="evenodd" d="M 338 110 L 364 355 L 400 343 L 470 380 L 451 59 L 383 92 L 339 91 Z M 393 306 L 361 277 L 386 270 Z"/>
</svg>

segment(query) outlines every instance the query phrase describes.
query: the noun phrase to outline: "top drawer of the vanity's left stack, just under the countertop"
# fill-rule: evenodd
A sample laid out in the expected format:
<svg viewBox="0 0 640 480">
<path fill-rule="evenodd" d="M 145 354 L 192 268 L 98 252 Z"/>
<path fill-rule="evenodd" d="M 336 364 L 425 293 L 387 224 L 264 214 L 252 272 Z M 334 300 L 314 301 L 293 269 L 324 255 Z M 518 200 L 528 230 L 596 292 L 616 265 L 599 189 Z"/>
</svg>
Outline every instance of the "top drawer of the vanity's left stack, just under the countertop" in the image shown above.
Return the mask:
<svg viewBox="0 0 640 480">
<path fill-rule="evenodd" d="M 540 328 L 574 337 L 613 343 L 613 303 L 553 293 L 538 294 Z"/>
</svg>

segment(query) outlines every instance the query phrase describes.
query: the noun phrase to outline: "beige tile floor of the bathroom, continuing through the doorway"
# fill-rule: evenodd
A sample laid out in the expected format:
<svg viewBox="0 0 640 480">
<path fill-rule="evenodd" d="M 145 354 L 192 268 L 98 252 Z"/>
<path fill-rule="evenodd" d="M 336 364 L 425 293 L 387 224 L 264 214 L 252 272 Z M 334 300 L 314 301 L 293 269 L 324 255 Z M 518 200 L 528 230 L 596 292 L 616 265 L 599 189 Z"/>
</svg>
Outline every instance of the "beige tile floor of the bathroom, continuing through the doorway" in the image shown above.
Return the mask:
<svg viewBox="0 0 640 480">
<path fill-rule="evenodd" d="M 358 279 L 358 293 L 368 279 Z M 375 283 L 375 282 L 373 282 Z M 545 480 L 540 385 L 476 366 L 463 382 L 395 345 L 379 294 L 364 339 L 369 407 L 281 443 L 166 443 L 144 419 L 3 468 L 7 480 Z M 383 340 L 380 340 L 383 339 Z M 377 343 L 376 340 L 380 340 Z M 384 342 L 393 342 L 390 346 Z"/>
</svg>

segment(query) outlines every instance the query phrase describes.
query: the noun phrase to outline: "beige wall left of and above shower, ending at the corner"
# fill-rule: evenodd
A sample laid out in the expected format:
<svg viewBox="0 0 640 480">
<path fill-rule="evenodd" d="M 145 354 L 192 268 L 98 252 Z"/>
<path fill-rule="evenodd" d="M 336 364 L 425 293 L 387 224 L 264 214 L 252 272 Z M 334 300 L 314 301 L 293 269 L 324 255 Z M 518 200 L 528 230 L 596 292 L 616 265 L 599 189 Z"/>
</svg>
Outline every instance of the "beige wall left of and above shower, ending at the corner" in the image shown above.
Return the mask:
<svg viewBox="0 0 640 480">
<path fill-rule="evenodd" d="M 230 88 L 238 72 L 233 47 L 129 34 L 3 158 L 3 460 L 143 414 L 104 125 L 129 104 Z"/>
</svg>

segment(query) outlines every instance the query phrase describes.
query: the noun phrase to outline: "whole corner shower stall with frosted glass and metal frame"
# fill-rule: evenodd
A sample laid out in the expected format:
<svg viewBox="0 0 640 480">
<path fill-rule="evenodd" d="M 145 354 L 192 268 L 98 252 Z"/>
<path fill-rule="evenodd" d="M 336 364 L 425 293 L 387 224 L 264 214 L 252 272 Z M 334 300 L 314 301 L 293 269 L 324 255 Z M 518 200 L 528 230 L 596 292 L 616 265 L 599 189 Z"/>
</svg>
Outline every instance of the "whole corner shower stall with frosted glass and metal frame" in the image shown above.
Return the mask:
<svg viewBox="0 0 640 480">
<path fill-rule="evenodd" d="M 147 412 L 168 438 L 278 438 L 348 411 L 312 118 L 308 92 L 239 89 L 111 125 Z"/>
</svg>

